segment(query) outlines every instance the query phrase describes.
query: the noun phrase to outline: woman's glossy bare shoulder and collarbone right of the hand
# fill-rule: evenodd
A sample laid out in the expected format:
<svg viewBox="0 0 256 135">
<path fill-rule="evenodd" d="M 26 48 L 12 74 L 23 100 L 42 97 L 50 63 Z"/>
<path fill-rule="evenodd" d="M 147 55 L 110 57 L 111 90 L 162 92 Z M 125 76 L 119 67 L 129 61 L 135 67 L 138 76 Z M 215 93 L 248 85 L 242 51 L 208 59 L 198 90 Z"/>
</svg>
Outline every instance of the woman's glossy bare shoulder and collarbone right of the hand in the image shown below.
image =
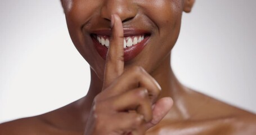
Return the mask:
<svg viewBox="0 0 256 135">
<path fill-rule="evenodd" d="M 176 104 L 175 104 L 176 102 Z M 188 89 L 151 134 L 256 134 L 256 115 Z"/>
</svg>

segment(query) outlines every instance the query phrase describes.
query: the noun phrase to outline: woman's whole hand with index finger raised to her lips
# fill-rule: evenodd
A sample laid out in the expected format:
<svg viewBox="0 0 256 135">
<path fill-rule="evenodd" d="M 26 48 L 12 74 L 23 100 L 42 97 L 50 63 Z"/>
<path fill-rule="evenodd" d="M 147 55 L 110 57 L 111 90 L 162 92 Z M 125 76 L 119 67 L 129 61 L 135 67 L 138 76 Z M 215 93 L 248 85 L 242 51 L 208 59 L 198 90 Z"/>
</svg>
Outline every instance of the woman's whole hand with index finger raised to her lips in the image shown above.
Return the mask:
<svg viewBox="0 0 256 135">
<path fill-rule="evenodd" d="M 145 134 L 163 119 L 173 101 L 169 97 L 156 101 L 161 88 L 143 68 L 124 72 L 124 34 L 118 15 L 112 15 L 111 27 L 104 86 L 93 102 L 85 134 Z"/>
</svg>

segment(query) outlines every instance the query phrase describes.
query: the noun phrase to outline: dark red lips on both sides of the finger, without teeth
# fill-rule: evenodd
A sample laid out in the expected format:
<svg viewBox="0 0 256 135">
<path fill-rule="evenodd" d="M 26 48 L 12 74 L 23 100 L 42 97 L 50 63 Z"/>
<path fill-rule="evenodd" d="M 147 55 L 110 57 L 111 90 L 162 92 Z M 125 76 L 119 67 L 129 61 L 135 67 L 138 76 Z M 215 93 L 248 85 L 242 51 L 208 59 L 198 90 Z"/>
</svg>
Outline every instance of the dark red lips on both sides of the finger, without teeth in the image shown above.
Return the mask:
<svg viewBox="0 0 256 135">
<path fill-rule="evenodd" d="M 107 50 L 108 48 L 106 46 L 102 46 L 98 40 L 96 39 L 95 35 L 101 35 L 101 36 L 111 36 L 111 30 L 110 29 L 104 29 L 104 30 L 95 30 L 91 34 L 91 38 L 93 40 L 93 43 L 95 44 L 95 48 L 98 52 L 98 54 L 106 60 Z M 134 44 L 131 47 L 124 48 L 124 61 L 129 61 L 134 59 L 146 46 L 147 42 L 150 38 L 150 33 L 145 30 L 138 30 L 138 29 L 125 29 L 124 28 L 124 37 L 132 37 L 137 35 L 144 35 L 144 39 L 137 44 Z"/>
</svg>

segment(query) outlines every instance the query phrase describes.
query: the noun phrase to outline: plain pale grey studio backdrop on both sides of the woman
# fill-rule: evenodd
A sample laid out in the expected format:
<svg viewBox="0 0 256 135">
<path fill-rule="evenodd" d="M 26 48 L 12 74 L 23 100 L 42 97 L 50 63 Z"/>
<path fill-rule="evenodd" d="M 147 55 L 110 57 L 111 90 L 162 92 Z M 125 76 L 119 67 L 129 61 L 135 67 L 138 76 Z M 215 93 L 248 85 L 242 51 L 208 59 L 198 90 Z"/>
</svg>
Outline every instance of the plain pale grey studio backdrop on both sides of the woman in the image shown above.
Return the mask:
<svg viewBox="0 0 256 135">
<path fill-rule="evenodd" d="M 172 52 L 183 84 L 254 113 L 255 6 L 196 0 Z M 59 0 L 2 0 L 0 19 L 0 123 L 86 95 L 89 66 L 71 43 Z"/>
</svg>

